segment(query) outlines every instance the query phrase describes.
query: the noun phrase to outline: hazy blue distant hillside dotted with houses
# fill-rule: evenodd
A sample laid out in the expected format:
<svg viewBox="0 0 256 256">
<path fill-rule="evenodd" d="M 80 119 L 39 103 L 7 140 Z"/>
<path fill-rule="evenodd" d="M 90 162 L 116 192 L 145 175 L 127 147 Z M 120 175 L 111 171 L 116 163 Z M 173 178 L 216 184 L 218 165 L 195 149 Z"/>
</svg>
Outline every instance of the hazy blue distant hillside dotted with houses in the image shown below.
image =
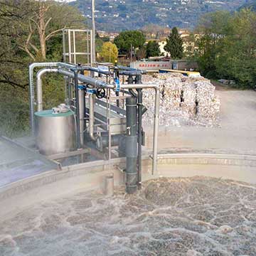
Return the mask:
<svg viewBox="0 0 256 256">
<path fill-rule="evenodd" d="M 159 26 L 193 28 L 198 18 L 217 10 L 234 11 L 247 0 L 97 0 L 97 29 L 122 31 L 142 28 L 149 23 Z M 82 13 L 91 18 L 90 0 L 77 0 Z"/>
</svg>

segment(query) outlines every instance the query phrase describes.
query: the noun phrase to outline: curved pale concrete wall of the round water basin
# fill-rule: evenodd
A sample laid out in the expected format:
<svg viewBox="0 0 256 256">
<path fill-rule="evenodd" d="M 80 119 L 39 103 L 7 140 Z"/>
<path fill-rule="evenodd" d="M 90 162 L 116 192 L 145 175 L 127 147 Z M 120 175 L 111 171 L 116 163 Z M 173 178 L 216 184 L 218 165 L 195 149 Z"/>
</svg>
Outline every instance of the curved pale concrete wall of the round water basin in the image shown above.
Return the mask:
<svg viewBox="0 0 256 256">
<path fill-rule="evenodd" d="M 143 181 L 164 176 L 212 176 L 256 183 L 256 156 L 239 154 L 159 154 L 158 173 L 151 175 L 151 157 L 142 159 Z M 114 174 L 114 186 L 124 185 L 125 158 L 93 161 L 51 170 L 0 188 L 0 216 L 75 191 L 104 189 L 105 177 Z"/>
</svg>

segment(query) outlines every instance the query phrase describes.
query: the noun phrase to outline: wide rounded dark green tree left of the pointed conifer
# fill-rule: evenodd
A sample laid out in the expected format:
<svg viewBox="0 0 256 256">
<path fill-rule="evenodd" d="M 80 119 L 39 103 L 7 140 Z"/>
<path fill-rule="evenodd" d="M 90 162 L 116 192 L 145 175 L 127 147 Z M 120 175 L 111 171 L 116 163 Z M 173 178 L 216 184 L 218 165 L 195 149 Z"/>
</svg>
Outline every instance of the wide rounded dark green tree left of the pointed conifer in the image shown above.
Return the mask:
<svg viewBox="0 0 256 256">
<path fill-rule="evenodd" d="M 123 31 L 114 38 L 114 44 L 119 49 L 120 54 L 129 54 L 131 46 L 141 48 L 146 42 L 145 36 L 141 31 Z"/>
</svg>

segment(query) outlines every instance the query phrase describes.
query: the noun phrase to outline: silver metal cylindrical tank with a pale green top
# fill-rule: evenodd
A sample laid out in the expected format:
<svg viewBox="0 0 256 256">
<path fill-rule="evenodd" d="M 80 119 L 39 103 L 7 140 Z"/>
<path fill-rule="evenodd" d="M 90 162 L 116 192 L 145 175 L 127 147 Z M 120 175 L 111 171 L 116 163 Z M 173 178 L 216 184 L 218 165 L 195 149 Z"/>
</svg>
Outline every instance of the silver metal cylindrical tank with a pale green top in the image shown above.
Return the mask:
<svg viewBox="0 0 256 256">
<path fill-rule="evenodd" d="M 52 114 L 52 110 L 43 110 L 36 112 L 35 115 L 36 144 L 41 154 L 60 154 L 74 149 L 73 112 Z"/>
</svg>

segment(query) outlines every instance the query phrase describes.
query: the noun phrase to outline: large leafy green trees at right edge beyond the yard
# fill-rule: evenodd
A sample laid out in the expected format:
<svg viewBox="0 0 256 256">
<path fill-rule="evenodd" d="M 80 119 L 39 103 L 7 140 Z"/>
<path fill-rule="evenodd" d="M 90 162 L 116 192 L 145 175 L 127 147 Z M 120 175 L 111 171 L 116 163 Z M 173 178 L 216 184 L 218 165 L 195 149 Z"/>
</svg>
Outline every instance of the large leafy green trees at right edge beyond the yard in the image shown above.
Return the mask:
<svg viewBox="0 0 256 256">
<path fill-rule="evenodd" d="M 195 58 L 208 78 L 235 80 L 240 87 L 256 83 L 256 14 L 242 9 L 218 11 L 201 18 Z"/>
</svg>

